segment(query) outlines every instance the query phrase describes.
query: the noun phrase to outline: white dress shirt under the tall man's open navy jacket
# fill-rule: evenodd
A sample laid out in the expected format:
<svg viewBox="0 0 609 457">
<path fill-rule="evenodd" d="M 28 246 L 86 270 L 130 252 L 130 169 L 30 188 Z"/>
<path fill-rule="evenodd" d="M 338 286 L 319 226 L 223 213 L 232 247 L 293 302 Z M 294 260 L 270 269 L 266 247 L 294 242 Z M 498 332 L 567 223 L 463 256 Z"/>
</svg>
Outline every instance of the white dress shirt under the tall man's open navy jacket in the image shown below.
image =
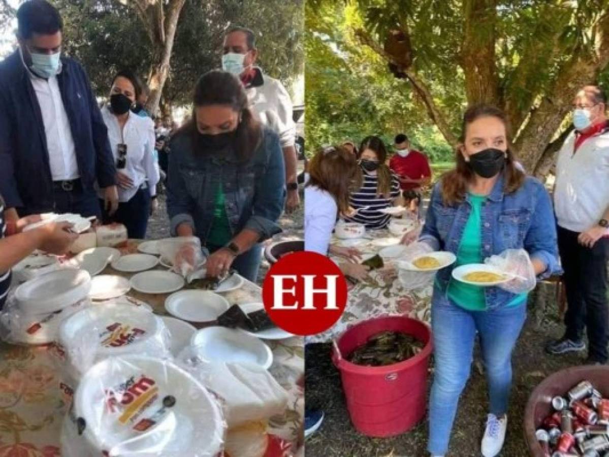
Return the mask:
<svg viewBox="0 0 609 457">
<path fill-rule="evenodd" d="M 57 77 L 44 79 L 33 74 L 25 63 L 24 66 L 32 80 L 42 113 L 52 180 L 76 180 L 80 178 L 76 150 Z"/>
</svg>

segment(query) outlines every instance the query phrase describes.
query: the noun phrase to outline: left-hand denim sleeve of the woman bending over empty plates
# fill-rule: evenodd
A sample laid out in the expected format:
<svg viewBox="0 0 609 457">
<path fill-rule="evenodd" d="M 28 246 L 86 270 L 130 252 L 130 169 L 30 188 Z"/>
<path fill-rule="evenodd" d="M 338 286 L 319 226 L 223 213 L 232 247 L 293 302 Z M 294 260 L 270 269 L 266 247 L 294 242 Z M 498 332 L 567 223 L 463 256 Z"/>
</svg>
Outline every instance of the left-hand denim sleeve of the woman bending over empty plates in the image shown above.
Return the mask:
<svg viewBox="0 0 609 457">
<path fill-rule="evenodd" d="M 191 225 L 193 230 L 195 229 L 192 218 L 194 201 L 186 190 L 184 177 L 180 172 L 179 155 L 177 148 L 169 154 L 169 168 L 167 169 L 167 214 L 172 236 L 177 236 L 178 225 L 184 222 Z"/>
</svg>

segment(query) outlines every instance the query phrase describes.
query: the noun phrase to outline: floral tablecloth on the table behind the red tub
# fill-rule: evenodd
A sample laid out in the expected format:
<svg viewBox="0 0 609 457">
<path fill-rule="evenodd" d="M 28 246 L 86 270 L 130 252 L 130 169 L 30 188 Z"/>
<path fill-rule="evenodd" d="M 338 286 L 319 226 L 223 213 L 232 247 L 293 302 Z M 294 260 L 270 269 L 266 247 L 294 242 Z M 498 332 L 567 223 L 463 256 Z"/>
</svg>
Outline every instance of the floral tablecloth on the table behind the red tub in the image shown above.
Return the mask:
<svg viewBox="0 0 609 457">
<path fill-rule="evenodd" d="M 376 254 L 382 246 L 374 240 L 393 238 L 387 230 L 368 231 L 365 243 L 356 246 L 362 253 Z M 333 244 L 339 242 L 334 239 Z M 406 290 L 398 279 L 391 262 L 385 267 L 371 271 L 370 278 L 357 283 L 350 291 L 347 307 L 339 321 L 328 331 L 308 337 L 308 343 L 321 343 L 341 335 L 348 327 L 379 316 L 409 316 L 426 323 L 431 321 L 432 285 L 418 290 Z"/>
</svg>

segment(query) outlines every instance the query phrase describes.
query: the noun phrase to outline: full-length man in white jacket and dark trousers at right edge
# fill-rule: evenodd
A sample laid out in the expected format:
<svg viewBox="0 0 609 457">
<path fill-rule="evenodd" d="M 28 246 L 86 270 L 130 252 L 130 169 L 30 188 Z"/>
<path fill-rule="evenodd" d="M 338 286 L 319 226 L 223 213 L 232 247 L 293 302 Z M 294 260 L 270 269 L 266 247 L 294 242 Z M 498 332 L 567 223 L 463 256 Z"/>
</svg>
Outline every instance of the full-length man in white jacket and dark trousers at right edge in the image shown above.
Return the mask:
<svg viewBox="0 0 609 457">
<path fill-rule="evenodd" d="M 565 335 L 551 354 L 584 351 L 588 363 L 607 363 L 609 260 L 609 124 L 607 96 L 585 86 L 573 102 L 574 132 L 558 152 L 554 206 L 558 249 L 565 270 L 568 309 Z"/>
</svg>

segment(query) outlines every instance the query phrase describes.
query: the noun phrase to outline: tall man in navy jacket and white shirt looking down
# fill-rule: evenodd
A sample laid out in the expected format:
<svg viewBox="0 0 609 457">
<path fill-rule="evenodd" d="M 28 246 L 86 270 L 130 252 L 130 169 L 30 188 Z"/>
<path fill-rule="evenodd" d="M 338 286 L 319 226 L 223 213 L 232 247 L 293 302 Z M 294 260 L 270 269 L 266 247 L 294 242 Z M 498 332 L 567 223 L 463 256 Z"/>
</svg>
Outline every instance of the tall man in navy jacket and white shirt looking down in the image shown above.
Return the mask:
<svg viewBox="0 0 609 457">
<path fill-rule="evenodd" d="M 116 168 L 82 67 L 61 55 L 62 18 L 45 0 L 17 12 L 19 49 L 0 63 L 0 193 L 7 220 L 41 212 L 100 216 L 94 184 L 118 207 Z"/>
</svg>

